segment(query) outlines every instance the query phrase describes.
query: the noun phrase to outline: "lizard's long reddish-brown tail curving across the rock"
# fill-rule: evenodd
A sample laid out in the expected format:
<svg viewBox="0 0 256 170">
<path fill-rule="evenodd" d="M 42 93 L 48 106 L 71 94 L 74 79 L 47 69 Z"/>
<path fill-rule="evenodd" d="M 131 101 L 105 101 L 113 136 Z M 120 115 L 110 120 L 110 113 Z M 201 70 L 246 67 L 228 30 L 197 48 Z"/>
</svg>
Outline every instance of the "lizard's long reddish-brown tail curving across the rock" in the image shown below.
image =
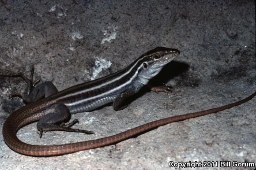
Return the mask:
<svg viewBox="0 0 256 170">
<path fill-rule="evenodd" d="M 209 109 L 206 111 L 199 111 L 195 113 L 188 113 L 185 115 L 178 115 L 178 116 L 173 116 L 169 118 L 164 118 L 161 120 L 157 120 L 154 122 L 150 122 L 147 124 L 144 124 L 142 126 L 138 126 L 136 128 L 127 130 L 125 132 L 110 136 L 110 137 L 105 137 L 105 138 L 100 138 L 96 140 L 89 140 L 89 141 L 84 141 L 84 142 L 78 142 L 78 143 L 73 143 L 73 144 L 62 144 L 62 145 L 49 145 L 49 146 L 39 146 L 39 145 L 30 145 L 23 143 L 16 137 L 16 132 L 17 130 L 14 128 L 15 125 L 10 120 L 6 120 L 4 123 L 3 127 L 3 135 L 4 135 L 4 140 L 8 146 L 13 149 L 15 152 L 19 152 L 24 155 L 30 155 L 30 156 L 54 156 L 54 155 L 64 155 L 72 152 L 78 152 L 78 151 L 83 151 L 87 149 L 93 149 L 93 148 L 98 148 L 98 147 L 103 147 L 107 146 L 110 144 L 115 144 L 117 142 L 120 142 L 122 140 L 126 140 L 130 137 L 133 137 L 135 135 L 138 135 L 140 133 L 146 132 L 147 130 L 154 129 L 159 126 L 166 125 L 171 122 L 177 122 L 177 121 L 182 121 L 185 119 L 189 118 L 196 118 L 199 116 L 203 115 L 208 115 L 211 113 L 216 113 L 218 111 L 223 111 L 225 109 L 229 109 L 231 107 L 235 107 L 237 105 L 240 105 L 242 103 L 247 102 L 248 100 L 251 100 L 254 96 L 256 95 L 256 92 L 254 92 L 251 96 L 248 96 L 247 98 L 227 104 L 222 107 L 216 107 L 213 109 Z M 26 111 L 26 109 L 23 109 L 23 111 Z M 15 112 L 13 113 L 15 114 Z M 16 113 L 19 115 L 19 113 Z"/>
</svg>

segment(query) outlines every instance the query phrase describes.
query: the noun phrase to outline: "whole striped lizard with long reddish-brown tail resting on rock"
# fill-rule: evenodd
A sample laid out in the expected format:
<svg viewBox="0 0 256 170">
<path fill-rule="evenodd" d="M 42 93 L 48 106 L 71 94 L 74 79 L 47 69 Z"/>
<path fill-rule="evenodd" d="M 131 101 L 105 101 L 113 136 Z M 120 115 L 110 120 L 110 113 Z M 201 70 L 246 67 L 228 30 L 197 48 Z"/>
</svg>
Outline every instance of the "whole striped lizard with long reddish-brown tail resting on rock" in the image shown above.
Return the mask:
<svg viewBox="0 0 256 170">
<path fill-rule="evenodd" d="M 37 128 L 40 132 L 40 137 L 43 132 L 53 130 L 88 134 L 94 133 L 89 130 L 70 128 L 78 122 L 76 119 L 70 123 L 65 124 L 64 122 L 70 118 L 71 114 L 91 111 L 111 102 L 113 102 L 114 110 L 127 107 L 125 101 L 138 92 L 151 78 L 157 75 L 167 63 L 171 62 L 179 54 L 180 52 L 177 49 L 158 47 L 143 54 L 123 70 L 94 81 L 75 85 L 61 92 L 58 92 L 55 86 L 49 81 L 34 86 L 34 70 L 30 75 L 30 79 L 26 78 L 21 73 L 0 74 L 7 77 L 21 77 L 28 84 L 25 95 L 22 96 L 23 101 L 28 104 L 14 111 L 4 122 L 4 141 L 12 150 L 24 155 L 63 155 L 115 144 L 158 126 L 222 111 L 244 103 L 256 95 L 256 93 L 253 93 L 244 100 L 207 111 L 164 118 L 138 126 L 123 133 L 96 140 L 72 144 L 39 146 L 23 143 L 16 136 L 17 131 L 21 127 L 35 121 L 38 121 Z M 168 86 L 162 86 L 154 90 L 164 92 L 168 90 Z"/>
</svg>

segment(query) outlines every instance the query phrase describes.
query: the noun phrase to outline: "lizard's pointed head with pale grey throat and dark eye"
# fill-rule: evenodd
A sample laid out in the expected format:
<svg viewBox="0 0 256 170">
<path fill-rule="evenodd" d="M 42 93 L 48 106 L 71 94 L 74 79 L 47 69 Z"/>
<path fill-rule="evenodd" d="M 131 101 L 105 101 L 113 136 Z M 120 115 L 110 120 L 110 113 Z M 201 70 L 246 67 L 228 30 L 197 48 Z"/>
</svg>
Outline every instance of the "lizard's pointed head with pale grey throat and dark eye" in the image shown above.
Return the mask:
<svg viewBox="0 0 256 170">
<path fill-rule="evenodd" d="M 147 84 L 151 78 L 156 76 L 166 64 L 175 59 L 179 54 L 179 50 L 165 47 L 157 47 L 143 54 L 139 58 L 139 82 L 144 85 Z"/>
</svg>

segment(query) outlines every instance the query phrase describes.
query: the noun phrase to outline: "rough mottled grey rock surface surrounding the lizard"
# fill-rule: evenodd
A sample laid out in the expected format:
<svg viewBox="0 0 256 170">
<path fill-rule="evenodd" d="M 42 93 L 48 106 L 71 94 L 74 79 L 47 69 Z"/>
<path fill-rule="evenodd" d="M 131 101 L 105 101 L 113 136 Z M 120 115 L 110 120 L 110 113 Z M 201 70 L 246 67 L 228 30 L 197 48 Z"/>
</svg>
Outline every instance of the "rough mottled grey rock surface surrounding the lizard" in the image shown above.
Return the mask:
<svg viewBox="0 0 256 170">
<path fill-rule="evenodd" d="M 36 78 L 53 81 L 59 90 L 118 71 L 158 46 L 181 51 L 153 80 L 172 85 L 172 92 L 141 92 L 124 110 L 107 106 L 72 116 L 80 121 L 75 127 L 96 135 L 48 132 L 40 139 L 33 123 L 20 129 L 18 137 L 42 145 L 91 140 L 249 96 L 256 90 L 255 4 L 252 0 L 0 0 L 0 69 L 28 73 L 34 65 Z M 23 105 L 10 94 L 22 91 L 24 85 L 19 78 L 0 77 L 0 131 L 8 115 Z M 214 161 L 218 166 L 208 169 L 222 169 L 220 161 L 256 163 L 255 103 L 254 98 L 116 145 L 51 158 L 13 152 L 0 133 L 0 169 L 169 170 L 169 161 Z"/>
</svg>

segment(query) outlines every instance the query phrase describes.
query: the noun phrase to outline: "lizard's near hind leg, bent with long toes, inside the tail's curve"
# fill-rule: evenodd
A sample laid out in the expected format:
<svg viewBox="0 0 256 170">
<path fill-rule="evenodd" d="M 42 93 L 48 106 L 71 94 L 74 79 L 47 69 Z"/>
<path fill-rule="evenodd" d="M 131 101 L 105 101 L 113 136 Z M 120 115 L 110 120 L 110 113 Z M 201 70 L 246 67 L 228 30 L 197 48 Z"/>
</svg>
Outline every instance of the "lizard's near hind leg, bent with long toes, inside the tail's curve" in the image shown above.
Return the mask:
<svg viewBox="0 0 256 170">
<path fill-rule="evenodd" d="M 70 128 L 76 123 L 79 123 L 77 119 L 74 119 L 69 123 L 64 123 L 67 122 L 71 117 L 68 107 L 64 104 L 50 105 L 41 111 L 41 113 L 44 114 L 44 116 L 37 123 L 40 138 L 42 137 L 42 133 L 48 131 L 67 131 L 94 134 L 94 132 L 90 130 Z"/>
</svg>

